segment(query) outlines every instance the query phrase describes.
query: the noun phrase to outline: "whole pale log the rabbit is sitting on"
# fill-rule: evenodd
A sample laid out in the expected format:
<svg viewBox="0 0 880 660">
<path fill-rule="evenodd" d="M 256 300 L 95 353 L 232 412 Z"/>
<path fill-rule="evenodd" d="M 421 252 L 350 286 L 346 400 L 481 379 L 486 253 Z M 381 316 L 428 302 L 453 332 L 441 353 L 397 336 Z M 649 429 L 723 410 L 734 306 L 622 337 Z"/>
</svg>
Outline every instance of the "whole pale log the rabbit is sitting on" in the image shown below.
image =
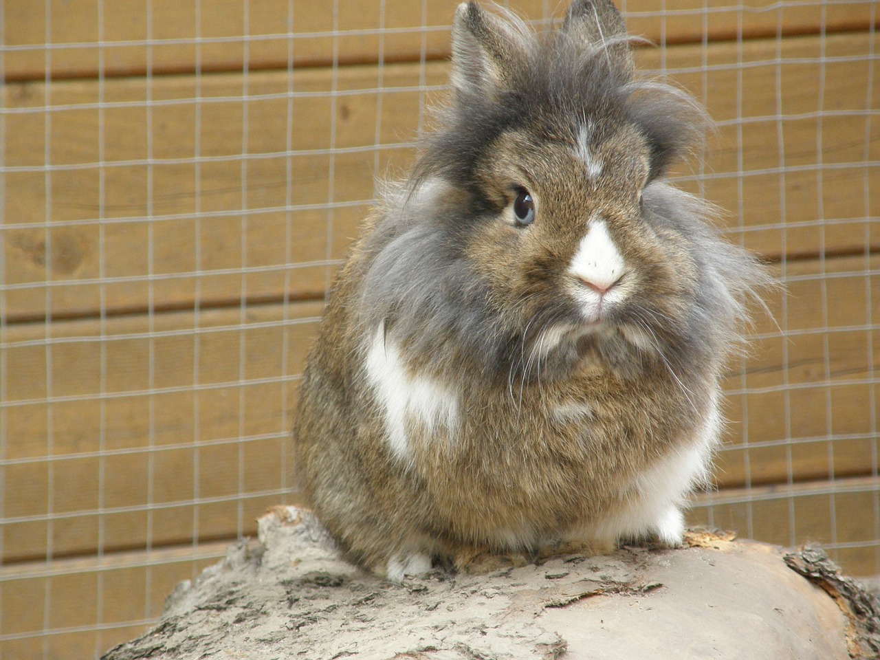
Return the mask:
<svg viewBox="0 0 880 660">
<path fill-rule="evenodd" d="M 180 583 L 158 625 L 104 660 L 876 657 L 880 605 L 817 552 L 691 532 L 681 549 L 397 585 L 342 561 L 308 511 L 284 507 L 260 519 L 259 544 Z"/>
</svg>

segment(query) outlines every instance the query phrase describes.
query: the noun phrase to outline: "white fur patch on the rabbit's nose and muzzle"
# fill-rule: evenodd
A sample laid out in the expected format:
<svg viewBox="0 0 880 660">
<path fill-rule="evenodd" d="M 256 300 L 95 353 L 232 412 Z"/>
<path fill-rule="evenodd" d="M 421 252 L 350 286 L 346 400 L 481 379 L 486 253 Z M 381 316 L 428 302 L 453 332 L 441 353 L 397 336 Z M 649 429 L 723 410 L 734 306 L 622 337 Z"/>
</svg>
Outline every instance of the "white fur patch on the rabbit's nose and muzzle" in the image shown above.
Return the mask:
<svg viewBox="0 0 880 660">
<path fill-rule="evenodd" d="M 601 216 L 590 218 L 587 235 L 581 238 L 577 252 L 568 264 L 568 272 L 583 282 L 578 298 L 589 319 L 598 319 L 603 304 L 614 304 L 625 297 L 625 290 L 615 286 L 626 273 L 623 260 L 608 225 Z"/>
</svg>

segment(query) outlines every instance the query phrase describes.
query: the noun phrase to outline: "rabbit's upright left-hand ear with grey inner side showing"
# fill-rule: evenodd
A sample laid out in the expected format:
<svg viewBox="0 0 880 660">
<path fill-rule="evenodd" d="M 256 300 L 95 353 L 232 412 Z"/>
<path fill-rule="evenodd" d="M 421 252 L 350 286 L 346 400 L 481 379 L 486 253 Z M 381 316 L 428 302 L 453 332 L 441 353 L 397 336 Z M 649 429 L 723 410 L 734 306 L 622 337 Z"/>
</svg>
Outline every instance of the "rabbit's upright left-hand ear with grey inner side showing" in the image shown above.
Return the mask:
<svg viewBox="0 0 880 660">
<path fill-rule="evenodd" d="M 524 57 L 528 28 L 516 17 L 495 17 L 476 3 L 462 3 L 452 24 L 451 82 L 458 94 L 491 94 Z"/>
</svg>

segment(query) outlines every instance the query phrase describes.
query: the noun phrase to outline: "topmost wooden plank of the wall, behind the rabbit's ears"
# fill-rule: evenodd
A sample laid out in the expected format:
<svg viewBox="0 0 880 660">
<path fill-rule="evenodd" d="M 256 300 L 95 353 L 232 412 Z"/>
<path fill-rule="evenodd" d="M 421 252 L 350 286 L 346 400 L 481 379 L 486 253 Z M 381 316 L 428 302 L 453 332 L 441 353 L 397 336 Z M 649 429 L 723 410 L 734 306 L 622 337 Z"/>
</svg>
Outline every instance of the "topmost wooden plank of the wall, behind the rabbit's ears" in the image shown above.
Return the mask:
<svg viewBox="0 0 880 660">
<path fill-rule="evenodd" d="M 450 25 L 458 0 L 424 4 L 367 0 L 348 11 L 333 3 L 273 0 L 50 0 L 48 12 L 32 0 L 4 2 L 4 74 L 39 80 L 169 72 L 284 69 L 293 66 L 418 61 L 449 54 Z M 503 3 L 524 18 L 559 18 L 545 0 Z M 385 7 L 383 13 L 382 7 Z M 656 43 L 729 40 L 782 34 L 868 29 L 869 2 L 825 4 L 747 0 L 649 0 L 620 4 L 632 34 Z M 99 11 L 99 7 L 101 10 Z M 545 16 L 545 12 L 549 16 Z M 99 32 L 100 26 L 100 32 Z M 294 36 L 289 38 L 288 34 Z M 247 39 L 246 39 L 247 38 Z M 46 44 L 51 49 L 45 48 Z M 99 43 L 101 44 L 99 46 Z"/>
</svg>

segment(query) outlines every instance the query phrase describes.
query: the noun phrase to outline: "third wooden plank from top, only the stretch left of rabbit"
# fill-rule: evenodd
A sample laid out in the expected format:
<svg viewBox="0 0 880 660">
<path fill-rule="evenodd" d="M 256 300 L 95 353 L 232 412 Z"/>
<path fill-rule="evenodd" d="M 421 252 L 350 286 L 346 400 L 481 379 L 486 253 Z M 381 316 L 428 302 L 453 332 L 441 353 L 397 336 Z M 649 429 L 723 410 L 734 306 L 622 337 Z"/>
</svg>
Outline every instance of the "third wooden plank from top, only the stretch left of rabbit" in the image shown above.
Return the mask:
<svg viewBox="0 0 880 660">
<path fill-rule="evenodd" d="M 4 561 L 253 532 L 321 307 L 8 328 Z"/>
</svg>

